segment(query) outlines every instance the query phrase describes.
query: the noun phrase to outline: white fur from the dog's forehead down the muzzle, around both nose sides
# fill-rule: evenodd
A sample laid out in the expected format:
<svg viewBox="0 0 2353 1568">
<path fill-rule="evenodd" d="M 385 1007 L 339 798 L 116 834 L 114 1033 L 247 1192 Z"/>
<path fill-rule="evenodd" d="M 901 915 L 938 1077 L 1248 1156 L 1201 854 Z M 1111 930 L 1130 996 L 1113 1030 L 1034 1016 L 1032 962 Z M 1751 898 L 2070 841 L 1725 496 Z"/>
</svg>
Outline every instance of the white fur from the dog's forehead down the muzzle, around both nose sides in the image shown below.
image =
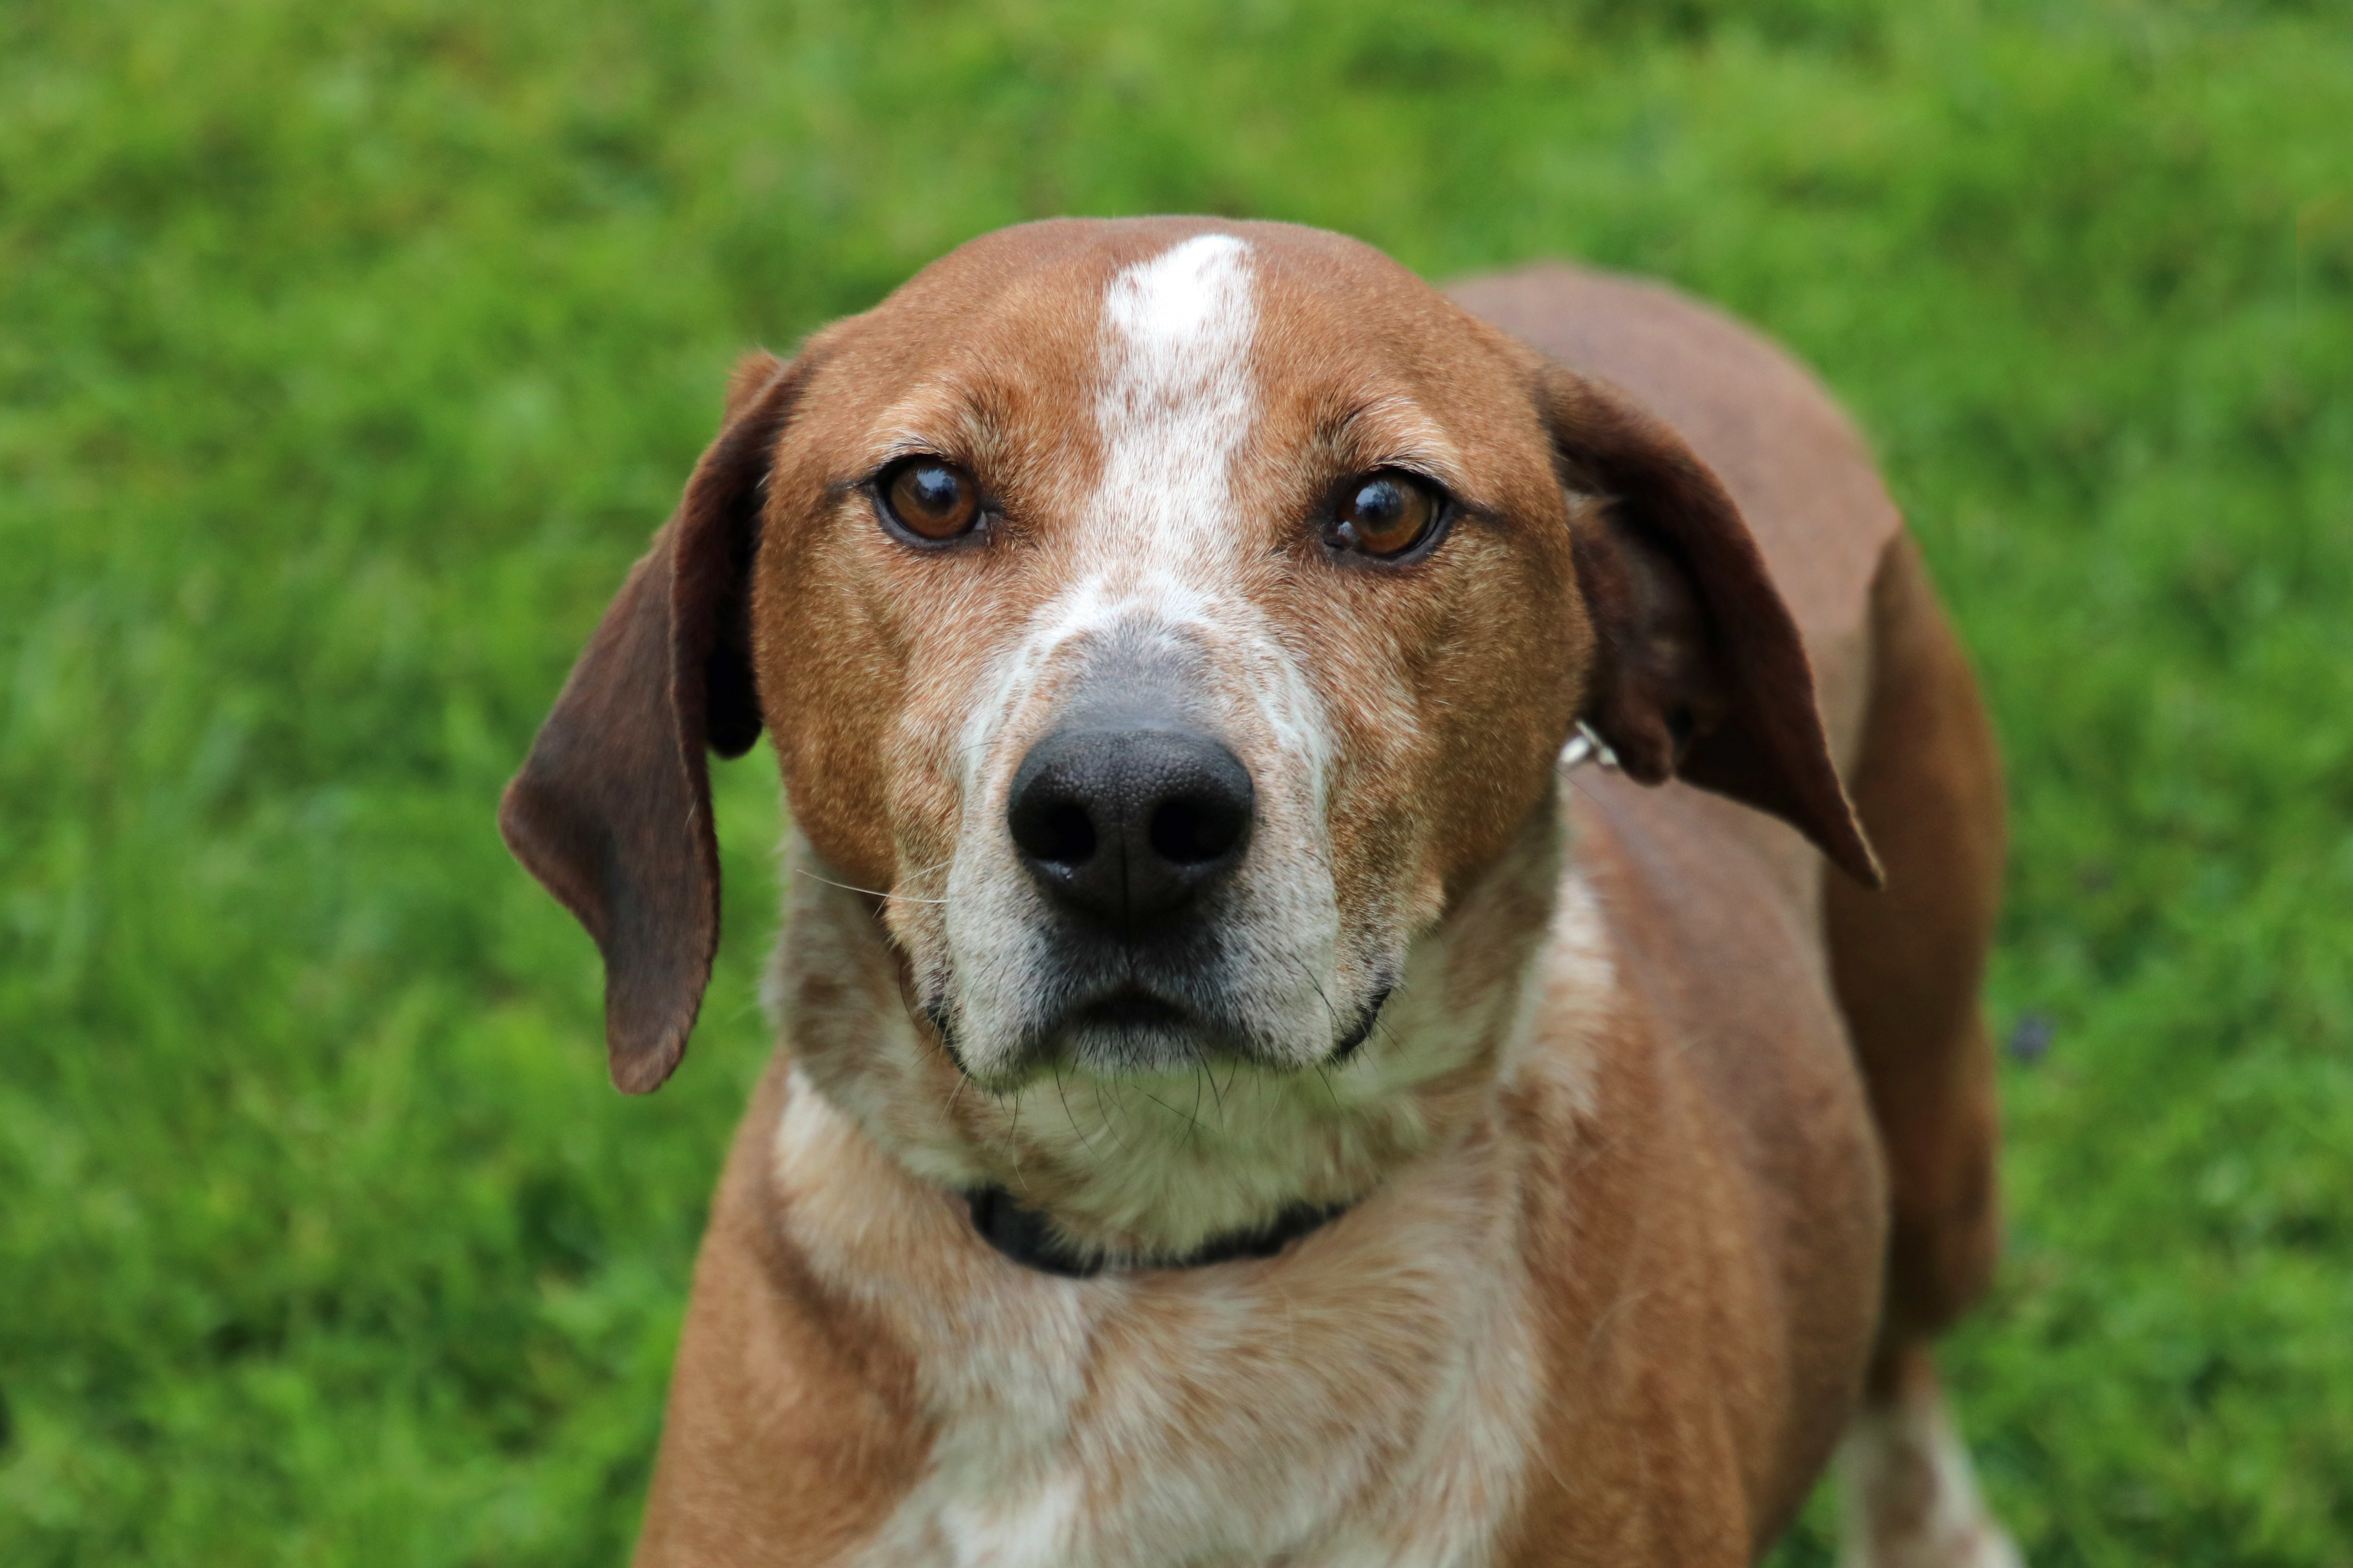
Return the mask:
<svg viewBox="0 0 2353 1568">
<path fill-rule="evenodd" d="M 1233 465 L 1261 416 L 1254 334 L 1249 247 L 1233 235 L 1184 240 L 1104 292 L 1104 468 L 1061 567 L 1066 585 L 1007 639 L 958 736 L 965 799 L 941 973 L 958 1051 L 984 1079 L 1016 1072 L 1054 1016 L 1049 914 L 1005 830 L 1007 792 L 1106 649 L 1184 670 L 1188 701 L 1257 785 L 1249 860 L 1219 922 L 1226 1018 L 1271 1065 L 1304 1067 L 1346 1025 L 1337 1006 L 1372 990 L 1362 959 L 1344 950 L 1332 893 L 1322 703 L 1235 581 L 1249 529 L 1235 515 Z M 918 924 L 894 929 L 920 952 Z"/>
</svg>

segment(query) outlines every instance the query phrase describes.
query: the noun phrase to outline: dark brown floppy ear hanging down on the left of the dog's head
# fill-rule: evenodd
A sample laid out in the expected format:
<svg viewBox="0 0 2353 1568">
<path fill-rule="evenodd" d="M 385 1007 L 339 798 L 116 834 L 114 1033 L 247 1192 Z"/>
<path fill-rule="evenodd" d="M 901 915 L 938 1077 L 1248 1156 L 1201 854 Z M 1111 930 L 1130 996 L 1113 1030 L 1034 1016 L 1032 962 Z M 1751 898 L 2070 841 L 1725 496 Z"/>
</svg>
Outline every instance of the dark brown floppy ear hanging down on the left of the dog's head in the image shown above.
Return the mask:
<svg viewBox="0 0 2353 1568">
<path fill-rule="evenodd" d="M 798 369 L 774 355 L 736 367 L 720 437 L 499 802 L 506 846 L 605 954 L 605 1044 L 628 1093 L 678 1067 L 720 943 L 704 748 L 741 757 L 760 738 L 746 583 L 798 390 Z"/>
</svg>

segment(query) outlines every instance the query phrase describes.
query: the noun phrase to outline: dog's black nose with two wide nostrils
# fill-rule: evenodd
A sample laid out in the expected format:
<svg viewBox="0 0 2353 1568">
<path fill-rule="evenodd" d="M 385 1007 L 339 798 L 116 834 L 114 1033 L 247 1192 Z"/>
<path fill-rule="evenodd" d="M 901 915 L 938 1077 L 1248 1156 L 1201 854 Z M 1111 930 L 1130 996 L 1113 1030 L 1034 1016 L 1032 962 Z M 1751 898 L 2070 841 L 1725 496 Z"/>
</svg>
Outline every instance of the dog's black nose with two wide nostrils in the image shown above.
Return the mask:
<svg viewBox="0 0 2353 1568">
<path fill-rule="evenodd" d="M 1111 924 L 1167 914 L 1242 863 L 1249 769 L 1167 724 L 1059 729 L 1021 759 L 1007 825 L 1047 896 Z"/>
</svg>

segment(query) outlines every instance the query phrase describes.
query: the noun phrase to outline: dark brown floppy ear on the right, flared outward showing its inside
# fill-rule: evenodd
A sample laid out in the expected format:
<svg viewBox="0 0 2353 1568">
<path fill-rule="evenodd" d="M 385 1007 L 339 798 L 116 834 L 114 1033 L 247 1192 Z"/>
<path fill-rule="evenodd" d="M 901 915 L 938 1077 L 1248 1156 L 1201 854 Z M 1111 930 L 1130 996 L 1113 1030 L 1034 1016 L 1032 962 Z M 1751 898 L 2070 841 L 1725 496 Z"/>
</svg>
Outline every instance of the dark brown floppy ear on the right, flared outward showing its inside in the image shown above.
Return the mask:
<svg viewBox="0 0 2353 1568">
<path fill-rule="evenodd" d="M 1633 778 L 1769 811 L 1880 886 L 1798 625 L 1722 482 L 1614 388 L 1548 369 L 1539 397 L 1562 484 L 1602 498 L 1574 541 L 1598 635 L 1586 724 Z"/>
</svg>

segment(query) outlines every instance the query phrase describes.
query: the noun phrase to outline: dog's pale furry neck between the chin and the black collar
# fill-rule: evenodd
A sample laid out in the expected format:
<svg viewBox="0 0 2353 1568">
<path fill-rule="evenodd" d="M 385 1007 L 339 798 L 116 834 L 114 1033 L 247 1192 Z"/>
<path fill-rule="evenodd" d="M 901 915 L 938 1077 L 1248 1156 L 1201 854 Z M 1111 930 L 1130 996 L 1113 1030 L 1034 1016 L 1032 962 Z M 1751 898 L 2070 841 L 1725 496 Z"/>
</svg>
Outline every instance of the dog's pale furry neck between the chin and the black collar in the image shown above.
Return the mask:
<svg viewBox="0 0 2353 1568">
<path fill-rule="evenodd" d="M 1548 792 L 1414 940 L 1372 1037 L 1308 1072 L 1049 1070 L 988 1093 L 908 1006 L 875 900 L 798 837 L 769 1009 L 807 1081 L 866 1138 L 936 1187 L 1009 1194 L 1064 1269 L 1184 1260 L 1341 1211 L 1480 1119 L 1525 1025 L 1565 832 Z"/>
</svg>

